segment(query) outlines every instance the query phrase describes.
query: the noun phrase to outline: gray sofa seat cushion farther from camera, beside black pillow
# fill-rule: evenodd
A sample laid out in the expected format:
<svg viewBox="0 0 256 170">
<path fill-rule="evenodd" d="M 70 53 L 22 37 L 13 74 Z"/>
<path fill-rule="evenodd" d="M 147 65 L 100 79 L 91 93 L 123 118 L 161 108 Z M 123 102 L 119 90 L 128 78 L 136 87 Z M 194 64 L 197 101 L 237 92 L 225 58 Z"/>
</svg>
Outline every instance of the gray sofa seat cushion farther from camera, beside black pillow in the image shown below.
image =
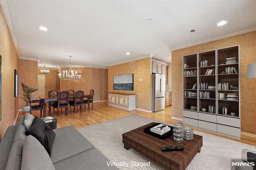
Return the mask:
<svg viewBox="0 0 256 170">
<path fill-rule="evenodd" d="M 53 164 L 95 148 L 93 144 L 72 126 L 54 129 L 54 132 L 56 136 L 51 155 Z"/>
</svg>

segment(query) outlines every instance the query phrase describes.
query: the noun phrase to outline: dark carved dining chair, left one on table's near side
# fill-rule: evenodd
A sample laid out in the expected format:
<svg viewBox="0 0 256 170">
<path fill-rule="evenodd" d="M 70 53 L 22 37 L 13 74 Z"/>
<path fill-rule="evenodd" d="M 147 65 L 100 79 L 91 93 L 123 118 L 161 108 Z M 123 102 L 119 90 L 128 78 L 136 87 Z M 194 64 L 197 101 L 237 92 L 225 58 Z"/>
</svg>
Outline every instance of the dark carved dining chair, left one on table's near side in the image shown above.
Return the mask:
<svg viewBox="0 0 256 170">
<path fill-rule="evenodd" d="M 59 92 L 58 93 L 58 102 L 57 103 L 54 103 L 53 105 L 53 115 L 55 115 L 55 108 L 58 109 L 58 117 L 60 116 L 60 113 L 59 113 L 59 109 L 61 108 L 65 108 L 65 113 L 68 114 L 68 96 L 69 96 L 69 93 L 67 91 L 62 91 L 62 92 Z M 62 110 L 61 110 L 61 114 L 62 114 Z"/>
</svg>

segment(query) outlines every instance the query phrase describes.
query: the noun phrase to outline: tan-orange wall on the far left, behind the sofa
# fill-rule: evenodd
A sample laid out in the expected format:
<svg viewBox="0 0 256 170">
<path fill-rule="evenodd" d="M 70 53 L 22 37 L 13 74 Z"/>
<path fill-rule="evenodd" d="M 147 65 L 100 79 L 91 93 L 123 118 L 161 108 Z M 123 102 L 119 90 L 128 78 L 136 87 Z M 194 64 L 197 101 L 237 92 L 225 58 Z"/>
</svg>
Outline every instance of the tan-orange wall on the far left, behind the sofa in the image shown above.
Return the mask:
<svg viewBox="0 0 256 170">
<path fill-rule="evenodd" d="M 2 8 L 0 8 L 0 54 L 2 55 L 0 140 L 2 140 L 7 127 L 14 124 L 19 110 L 19 96 L 14 97 L 14 69 L 19 70 L 19 59 Z"/>
</svg>

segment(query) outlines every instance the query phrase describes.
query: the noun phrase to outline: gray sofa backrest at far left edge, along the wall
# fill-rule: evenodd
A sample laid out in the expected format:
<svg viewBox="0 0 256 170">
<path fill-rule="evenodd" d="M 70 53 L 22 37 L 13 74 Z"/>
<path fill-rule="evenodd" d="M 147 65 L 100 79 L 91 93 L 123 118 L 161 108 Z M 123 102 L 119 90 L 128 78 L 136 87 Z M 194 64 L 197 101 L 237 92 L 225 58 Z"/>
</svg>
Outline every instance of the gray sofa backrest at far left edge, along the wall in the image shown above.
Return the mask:
<svg viewBox="0 0 256 170">
<path fill-rule="evenodd" d="M 5 170 L 6 168 L 17 127 L 18 125 L 12 125 L 8 127 L 4 137 L 2 138 L 2 141 L 0 142 L 0 170 Z"/>
</svg>

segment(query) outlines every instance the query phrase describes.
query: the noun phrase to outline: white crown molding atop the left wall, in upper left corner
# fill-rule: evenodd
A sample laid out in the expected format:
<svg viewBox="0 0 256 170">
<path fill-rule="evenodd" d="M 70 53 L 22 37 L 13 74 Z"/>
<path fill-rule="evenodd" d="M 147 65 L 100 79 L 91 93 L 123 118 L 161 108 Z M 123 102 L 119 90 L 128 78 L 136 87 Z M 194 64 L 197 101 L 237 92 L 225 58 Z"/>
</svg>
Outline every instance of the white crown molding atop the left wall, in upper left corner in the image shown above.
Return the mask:
<svg viewBox="0 0 256 170">
<path fill-rule="evenodd" d="M 14 43 L 17 55 L 20 58 L 20 48 L 19 48 L 17 37 L 16 37 L 16 32 L 15 32 L 14 23 L 13 23 L 13 20 L 12 20 L 12 14 L 10 12 L 10 6 L 9 6 L 9 3 L 8 3 L 8 0 L 0 0 L 0 4 L 2 6 L 4 16 L 5 16 L 6 23 L 8 25 L 10 34 L 12 36 L 12 41 Z"/>
</svg>

